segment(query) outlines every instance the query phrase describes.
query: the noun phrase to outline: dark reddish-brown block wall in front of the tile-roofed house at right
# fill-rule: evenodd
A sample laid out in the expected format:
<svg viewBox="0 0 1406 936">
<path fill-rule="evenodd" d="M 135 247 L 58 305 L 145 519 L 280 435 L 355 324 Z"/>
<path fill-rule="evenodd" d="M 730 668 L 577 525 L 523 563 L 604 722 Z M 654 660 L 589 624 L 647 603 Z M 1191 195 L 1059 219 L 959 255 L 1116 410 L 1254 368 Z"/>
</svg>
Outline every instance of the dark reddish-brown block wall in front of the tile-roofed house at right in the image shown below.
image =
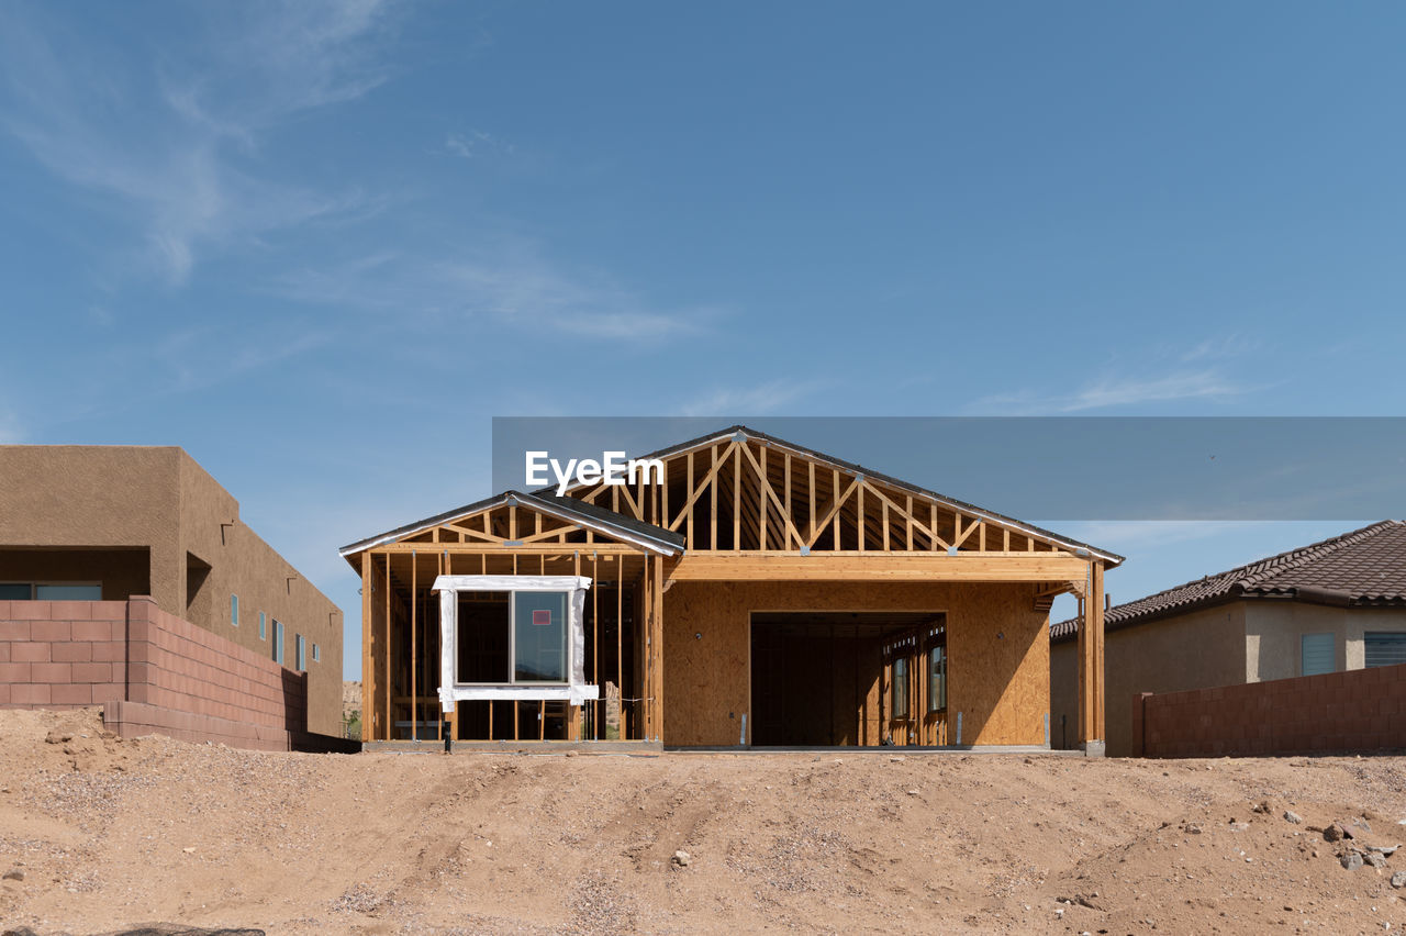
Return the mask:
<svg viewBox="0 0 1406 936">
<path fill-rule="evenodd" d="M 1406 665 L 1133 697 L 1147 758 L 1406 749 Z"/>
</svg>

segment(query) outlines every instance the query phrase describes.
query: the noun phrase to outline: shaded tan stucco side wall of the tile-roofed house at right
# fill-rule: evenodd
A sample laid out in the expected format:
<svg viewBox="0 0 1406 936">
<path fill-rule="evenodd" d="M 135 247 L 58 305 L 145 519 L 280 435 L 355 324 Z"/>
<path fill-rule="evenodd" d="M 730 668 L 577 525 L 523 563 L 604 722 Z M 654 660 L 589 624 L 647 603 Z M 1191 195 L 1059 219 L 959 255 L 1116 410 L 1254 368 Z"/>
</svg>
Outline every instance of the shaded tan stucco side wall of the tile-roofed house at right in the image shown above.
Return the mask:
<svg viewBox="0 0 1406 936">
<path fill-rule="evenodd" d="M 1132 697 L 1244 682 L 1244 602 L 1108 631 L 1104 642 L 1108 753 L 1132 753 Z M 1077 641 L 1050 648 L 1050 704 L 1054 742 L 1060 717 L 1073 746 L 1078 738 Z"/>
</svg>

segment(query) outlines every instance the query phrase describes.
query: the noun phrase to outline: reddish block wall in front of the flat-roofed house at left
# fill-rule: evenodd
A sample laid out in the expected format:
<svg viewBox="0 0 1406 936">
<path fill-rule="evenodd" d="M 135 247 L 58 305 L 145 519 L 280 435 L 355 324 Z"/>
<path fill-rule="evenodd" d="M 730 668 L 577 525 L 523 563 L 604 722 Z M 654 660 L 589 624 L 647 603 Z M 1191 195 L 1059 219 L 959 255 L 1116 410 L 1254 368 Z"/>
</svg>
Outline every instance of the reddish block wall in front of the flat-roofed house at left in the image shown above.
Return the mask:
<svg viewBox="0 0 1406 936">
<path fill-rule="evenodd" d="M 307 734 L 308 676 L 127 602 L 0 602 L 0 707 L 103 706 L 120 734 L 288 749 Z"/>
</svg>

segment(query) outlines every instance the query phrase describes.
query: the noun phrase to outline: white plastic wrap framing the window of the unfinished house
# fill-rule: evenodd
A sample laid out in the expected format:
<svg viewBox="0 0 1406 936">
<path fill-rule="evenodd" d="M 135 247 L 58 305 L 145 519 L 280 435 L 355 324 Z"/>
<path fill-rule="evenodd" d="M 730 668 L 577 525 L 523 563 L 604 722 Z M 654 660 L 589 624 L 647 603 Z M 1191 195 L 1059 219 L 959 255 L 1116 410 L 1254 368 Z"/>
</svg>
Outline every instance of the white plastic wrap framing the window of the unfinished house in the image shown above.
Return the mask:
<svg viewBox="0 0 1406 936">
<path fill-rule="evenodd" d="M 591 579 L 583 575 L 441 575 L 433 589 L 440 593 L 440 706 L 453 711 L 461 700 L 492 698 L 520 701 L 567 701 L 579 706 L 588 698 L 599 698 L 600 687 L 586 683 L 586 589 Z M 454 661 L 458 656 L 458 593 L 460 592 L 565 592 L 567 600 L 567 673 L 565 686 L 460 686 L 454 682 Z"/>
</svg>

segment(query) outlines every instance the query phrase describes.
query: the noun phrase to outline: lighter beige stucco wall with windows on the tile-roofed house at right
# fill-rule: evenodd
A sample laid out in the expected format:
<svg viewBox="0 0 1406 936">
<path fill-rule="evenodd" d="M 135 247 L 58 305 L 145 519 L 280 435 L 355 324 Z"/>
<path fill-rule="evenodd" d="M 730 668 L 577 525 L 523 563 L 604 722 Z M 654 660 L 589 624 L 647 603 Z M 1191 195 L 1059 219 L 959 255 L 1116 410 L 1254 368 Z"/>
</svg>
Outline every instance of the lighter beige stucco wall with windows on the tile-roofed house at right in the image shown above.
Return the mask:
<svg viewBox="0 0 1406 936">
<path fill-rule="evenodd" d="M 1329 607 L 1291 600 L 1246 603 L 1244 682 L 1302 676 L 1305 634 L 1333 634 L 1336 669 L 1365 665 L 1364 631 L 1406 631 L 1406 610 L 1388 607 Z"/>
</svg>

